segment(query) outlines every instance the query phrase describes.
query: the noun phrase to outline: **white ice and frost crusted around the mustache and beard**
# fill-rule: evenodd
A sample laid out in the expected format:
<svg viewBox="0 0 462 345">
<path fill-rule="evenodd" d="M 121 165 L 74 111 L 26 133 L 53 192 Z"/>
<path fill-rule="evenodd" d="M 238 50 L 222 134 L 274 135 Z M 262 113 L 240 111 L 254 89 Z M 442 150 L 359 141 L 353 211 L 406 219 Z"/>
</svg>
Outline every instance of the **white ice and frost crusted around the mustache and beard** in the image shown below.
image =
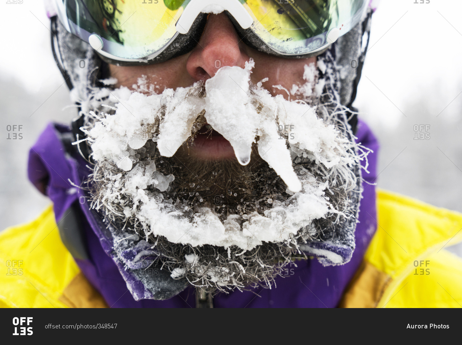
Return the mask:
<svg viewBox="0 0 462 345">
<path fill-rule="evenodd" d="M 206 270 L 197 262 L 209 262 L 216 254 L 189 262 L 184 247 L 178 247 L 176 266 L 169 266 L 176 278 L 192 272 L 196 278 L 202 277 L 201 284 L 206 284 L 203 279 L 208 277 L 218 286 L 244 286 L 243 277 L 231 278 L 234 271 L 230 268 L 239 262 L 244 270 L 239 274 L 245 275 L 249 265 L 257 265 L 253 256 L 246 259 L 244 252 L 257 251 L 262 245 L 266 248 L 263 242 L 267 242 L 280 246 L 278 250 L 289 248 L 281 254 L 289 260 L 287 253 L 299 252 L 300 242 L 319 232 L 316 219 L 354 217 L 343 211 L 349 207 L 346 195 L 358 186 L 352 167 L 362 158 L 355 152 L 357 146 L 339 131 L 336 112 L 345 109 L 335 102 L 328 110 L 313 102 L 273 97 L 261 82 L 250 82 L 252 67 L 252 61 L 244 69 L 222 67 L 205 86 L 197 83 L 159 94 L 152 85 L 140 85 L 138 91 L 101 89 L 92 104 L 83 105 L 89 116 L 82 129 L 95 161 L 91 178 L 99 186 L 93 192 L 92 207 L 124 228 L 128 224 L 128 230 L 152 241 L 154 247 L 164 237 L 171 244 L 190 246 L 191 253 L 207 245 L 227 250 L 228 254 L 220 256 L 225 263 L 207 264 Z M 304 100 L 311 101 L 320 97 L 323 82 L 315 83 L 315 71 L 314 66 L 305 66 L 306 84 L 294 86 L 292 94 L 298 90 Z M 191 135 L 194 138 L 193 128 L 201 115 L 231 143 L 241 165 L 249 164 L 252 145 L 256 145 L 261 160 L 280 176 L 286 190 L 274 197 L 256 195 L 253 210 L 243 212 L 238 205 L 237 212 L 228 212 L 224 220 L 215 212 L 216 205 L 206 200 L 193 205 L 187 200 L 173 200 L 175 175 L 164 174 L 156 164 L 188 145 L 185 143 Z M 159 159 L 157 163 L 154 156 Z M 267 174 L 270 176 L 269 171 Z M 275 180 L 262 181 L 256 178 L 255 184 Z M 240 254 L 236 248 L 230 252 L 234 246 Z M 273 256 L 258 262 L 269 267 L 262 277 L 274 273 L 269 264 Z M 169 258 L 172 260 L 171 255 Z M 331 259 L 337 260 L 334 256 Z"/>
</svg>

